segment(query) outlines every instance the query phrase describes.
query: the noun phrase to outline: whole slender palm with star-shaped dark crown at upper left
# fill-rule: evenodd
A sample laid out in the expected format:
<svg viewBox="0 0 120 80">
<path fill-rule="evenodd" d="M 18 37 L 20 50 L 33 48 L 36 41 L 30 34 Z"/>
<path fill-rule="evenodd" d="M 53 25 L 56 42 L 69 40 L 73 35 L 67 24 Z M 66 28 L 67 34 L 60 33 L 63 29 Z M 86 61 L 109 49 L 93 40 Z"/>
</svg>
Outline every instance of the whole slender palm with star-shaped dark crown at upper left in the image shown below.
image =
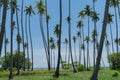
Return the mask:
<svg viewBox="0 0 120 80">
<path fill-rule="evenodd" d="M 30 36 L 30 44 L 31 44 L 31 57 L 32 57 L 32 69 L 31 70 L 33 70 L 33 42 L 32 42 L 32 35 L 31 35 L 31 26 L 30 26 L 30 20 L 31 20 L 31 18 L 30 18 L 30 16 L 32 15 L 32 14 L 35 14 L 35 12 L 34 12 L 34 10 L 33 10 L 33 8 L 32 8 L 32 6 L 30 5 L 30 6 L 28 6 L 28 7 L 26 7 L 26 15 L 28 15 L 28 18 L 29 18 L 29 36 Z"/>
</svg>

